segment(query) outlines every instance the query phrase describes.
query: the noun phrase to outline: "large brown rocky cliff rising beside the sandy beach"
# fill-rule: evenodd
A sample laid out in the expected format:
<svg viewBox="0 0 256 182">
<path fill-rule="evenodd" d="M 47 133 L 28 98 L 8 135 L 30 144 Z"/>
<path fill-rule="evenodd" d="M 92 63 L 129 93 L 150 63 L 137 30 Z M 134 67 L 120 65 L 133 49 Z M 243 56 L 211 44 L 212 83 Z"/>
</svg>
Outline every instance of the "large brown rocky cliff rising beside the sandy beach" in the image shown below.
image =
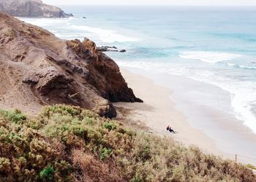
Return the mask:
<svg viewBox="0 0 256 182">
<path fill-rule="evenodd" d="M 0 12 L 0 107 L 37 112 L 66 103 L 116 116 L 111 102 L 142 102 L 117 64 L 89 39 L 66 41 Z"/>
</svg>

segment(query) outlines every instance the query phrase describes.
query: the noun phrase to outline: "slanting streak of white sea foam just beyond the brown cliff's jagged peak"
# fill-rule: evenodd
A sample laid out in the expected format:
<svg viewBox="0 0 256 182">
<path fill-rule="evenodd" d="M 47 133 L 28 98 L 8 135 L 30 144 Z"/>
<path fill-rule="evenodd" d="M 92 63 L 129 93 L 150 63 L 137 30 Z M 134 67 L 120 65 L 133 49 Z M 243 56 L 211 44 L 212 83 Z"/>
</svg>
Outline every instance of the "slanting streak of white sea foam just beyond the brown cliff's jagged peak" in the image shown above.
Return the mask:
<svg viewBox="0 0 256 182">
<path fill-rule="evenodd" d="M 101 39 L 104 42 L 139 41 L 138 38 L 130 37 L 130 36 L 124 36 L 124 35 L 121 35 L 121 34 L 117 33 L 116 31 L 106 30 L 106 29 L 102 29 L 102 28 L 90 27 L 90 26 L 85 26 L 85 25 L 70 25 L 70 28 L 73 28 L 73 29 L 79 30 L 79 31 L 88 31 L 88 32 L 97 34 L 99 39 Z"/>
</svg>

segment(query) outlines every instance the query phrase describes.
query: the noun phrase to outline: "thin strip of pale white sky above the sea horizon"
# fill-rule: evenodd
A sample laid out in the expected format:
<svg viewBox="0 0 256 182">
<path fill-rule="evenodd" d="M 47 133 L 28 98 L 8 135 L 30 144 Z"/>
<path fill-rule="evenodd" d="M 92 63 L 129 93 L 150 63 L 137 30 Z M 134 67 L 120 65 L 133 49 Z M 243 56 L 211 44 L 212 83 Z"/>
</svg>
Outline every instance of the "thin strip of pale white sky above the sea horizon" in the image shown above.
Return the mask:
<svg viewBox="0 0 256 182">
<path fill-rule="evenodd" d="M 51 5 L 256 6 L 256 0 L 42 0 Z"/>
</svg>

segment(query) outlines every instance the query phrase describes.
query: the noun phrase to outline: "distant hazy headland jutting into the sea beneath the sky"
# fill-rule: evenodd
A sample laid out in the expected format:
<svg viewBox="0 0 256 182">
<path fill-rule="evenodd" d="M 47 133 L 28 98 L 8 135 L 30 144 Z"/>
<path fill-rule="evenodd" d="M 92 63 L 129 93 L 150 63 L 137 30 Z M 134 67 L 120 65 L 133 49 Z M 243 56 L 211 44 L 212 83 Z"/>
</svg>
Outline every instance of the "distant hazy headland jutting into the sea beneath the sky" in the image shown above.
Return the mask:
<svg viewBox="0 0 256 182">
<path fill-rule="evenodd" d="M 41 0 L 0 0 L 0 12 L 15 17 L 72 17 L 59 7 L 43 4 Z"/>
</svg>

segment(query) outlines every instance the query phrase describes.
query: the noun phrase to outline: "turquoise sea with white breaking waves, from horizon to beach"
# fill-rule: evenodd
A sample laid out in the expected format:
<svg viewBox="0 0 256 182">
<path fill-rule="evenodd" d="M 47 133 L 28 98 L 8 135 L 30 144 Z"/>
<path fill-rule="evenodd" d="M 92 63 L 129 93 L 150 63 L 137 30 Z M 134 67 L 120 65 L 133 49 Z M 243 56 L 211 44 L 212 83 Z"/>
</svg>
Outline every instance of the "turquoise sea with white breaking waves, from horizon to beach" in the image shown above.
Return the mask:
<svg viewBox="0 0 256 182">
<path fill-rule="evenodd" d="M 86 36 L 125 49 L 108 53 L 120 66 L 221 87 L 236 117 L 256 132 L 256 7 L 63 8 L 75 17 L 23 20 L 61 39 Z"/>
</svg>

